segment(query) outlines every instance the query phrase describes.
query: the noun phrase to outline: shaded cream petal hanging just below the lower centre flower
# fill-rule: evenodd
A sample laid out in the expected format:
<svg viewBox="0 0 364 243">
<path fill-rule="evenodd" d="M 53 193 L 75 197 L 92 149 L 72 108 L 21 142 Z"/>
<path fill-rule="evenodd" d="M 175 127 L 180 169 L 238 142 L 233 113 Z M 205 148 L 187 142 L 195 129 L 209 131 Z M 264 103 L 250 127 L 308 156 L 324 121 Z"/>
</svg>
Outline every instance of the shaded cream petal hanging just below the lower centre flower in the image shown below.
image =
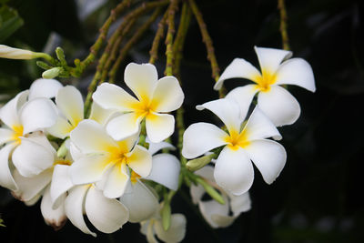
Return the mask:
<svg viewBox="0 0 364 243">
<path fill-rule="evenodd" d="M 137 223 L 151 218 L 159 209 L 157 197 L 139 180 L 132 187 L 132 193 L 125 193 L 120 198 L 129 209 L 129 221 Z"/>
</svg>

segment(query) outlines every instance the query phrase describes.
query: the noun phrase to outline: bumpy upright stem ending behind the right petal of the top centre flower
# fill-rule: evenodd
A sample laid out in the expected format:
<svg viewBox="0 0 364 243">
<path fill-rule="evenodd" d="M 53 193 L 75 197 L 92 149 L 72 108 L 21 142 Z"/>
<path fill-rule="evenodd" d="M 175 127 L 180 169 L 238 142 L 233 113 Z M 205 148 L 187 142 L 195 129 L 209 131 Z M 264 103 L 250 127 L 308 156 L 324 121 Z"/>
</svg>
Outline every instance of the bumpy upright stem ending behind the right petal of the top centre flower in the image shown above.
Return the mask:
<svg viewBox="0 0 364 243">
<path fill-rule="evenodd" d="M 171 0 L 171 3 L 167 10 L 167 36 L 166 36 L 166 56 L 167 56 L 167 63 L 166 63 L 166 70 L 165 76 L 173 76 L 173 34 L 175 33 L 175 15 L 177 11 L 178 0 Z"/>
</svg>

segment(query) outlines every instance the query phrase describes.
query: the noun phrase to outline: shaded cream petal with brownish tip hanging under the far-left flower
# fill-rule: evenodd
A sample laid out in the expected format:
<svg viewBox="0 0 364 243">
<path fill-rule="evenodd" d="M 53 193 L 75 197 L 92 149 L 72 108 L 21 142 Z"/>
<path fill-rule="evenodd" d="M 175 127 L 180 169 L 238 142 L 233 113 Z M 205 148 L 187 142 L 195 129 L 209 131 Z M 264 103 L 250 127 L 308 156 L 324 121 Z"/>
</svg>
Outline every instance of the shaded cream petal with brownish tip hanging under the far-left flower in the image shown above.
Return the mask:
<svg viewBox="0 0 364 243">
<path fill-rule="evenodd" d="M 52 179 L 52 169 L 46 169 L 35 177 L 23 177 L 15 169 L 13 176 L 18 187 L 14 192 L 15 196 L 19 200 L 29 201 L 49 185 Z"/>
</svg>

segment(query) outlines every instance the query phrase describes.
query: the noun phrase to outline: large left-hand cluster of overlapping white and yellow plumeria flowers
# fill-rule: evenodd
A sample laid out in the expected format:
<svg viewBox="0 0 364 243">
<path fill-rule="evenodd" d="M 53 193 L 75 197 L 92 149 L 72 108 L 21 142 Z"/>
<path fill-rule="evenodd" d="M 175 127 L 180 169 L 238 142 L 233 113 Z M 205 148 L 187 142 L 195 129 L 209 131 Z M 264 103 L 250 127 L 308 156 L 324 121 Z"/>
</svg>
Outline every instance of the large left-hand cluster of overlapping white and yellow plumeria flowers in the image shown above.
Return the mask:
<svg viewBox="0 0 364 243">
<path fill-rule="evenodd" d="M 158 80 L 149 64 L 126 66 L 125 81 L 136 98 L 103 84 L 89 116 L 76 87 L 54 79 L 35 80 L 10 100 L 0 109 L 0 185 L 26 205 L 42 198 L 45 222 L 56 229 L 68 218 L 96 237 L 85 217 L 104 233 L 129 221 L 141 223 L 147 238 L 156 232 L 164 241 L 180 241 L 186 218 L 172 215 L 167 230 L 161 228 L 152 186 L 177 190 L 177 157 L 157 152 L 174 149 L 163 142 L 175 130 L 167 113 L 181 106 L 184 94 L 174 76 Z"/>
</svg>

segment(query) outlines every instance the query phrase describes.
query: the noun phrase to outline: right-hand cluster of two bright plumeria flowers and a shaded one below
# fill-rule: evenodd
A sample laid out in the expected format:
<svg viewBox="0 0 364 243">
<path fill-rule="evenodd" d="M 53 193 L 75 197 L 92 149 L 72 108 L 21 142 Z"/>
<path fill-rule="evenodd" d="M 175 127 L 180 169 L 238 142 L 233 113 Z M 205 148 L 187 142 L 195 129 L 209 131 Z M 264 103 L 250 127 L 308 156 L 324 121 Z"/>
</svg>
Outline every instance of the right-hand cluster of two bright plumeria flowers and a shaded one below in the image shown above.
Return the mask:
<svg viewBox="0 0 364 243">
<path fill-rule="evenodd" d="M 263 47 L 255 47 L 255 50 L 260 72 L 246 60 L 236 58 L 227 66 L 214 88 L 219 89 L 226 79 L 237 77 L 252 80 L 255 84 L 239 86 L 225 98 L 197 106 L 198 110 L 208 109 L 213 112 L 221 119 L 224 127 L 221 129 L 200 122 L 192 124 L 184 134 L 184 157 L 196 158 L 209 151 L 216 154 L 215 167 L 204 167 L 204 170 L 197 172 L 223 191 L 230 203 L 235 205 L 231 208 L 233 216 L 227 216 L 227 205 L 202 202 L 202 188 L 191 187 L 194 202 L 198 203 L 203 216 L 213 227 L 230 224 L 240 212 L 249 208 L 248 190 L 254 180 L 252 162 L 268 184 L 276 180 L 286 164 L 286 150 L 275 141 L 282 138 L 277 127 L 294 123 L 300 108 L 296 98 L 282 85 L 297 85 L 315 91 L 312 69 L 305 60 L 286 60 L 292 56 L 289 51 Z M 258 105 L 246 120 L 257 93 Z M 245 201 L 240 205 L 243 209 L 234 203 L 236 200 Z"/>
</svg>

